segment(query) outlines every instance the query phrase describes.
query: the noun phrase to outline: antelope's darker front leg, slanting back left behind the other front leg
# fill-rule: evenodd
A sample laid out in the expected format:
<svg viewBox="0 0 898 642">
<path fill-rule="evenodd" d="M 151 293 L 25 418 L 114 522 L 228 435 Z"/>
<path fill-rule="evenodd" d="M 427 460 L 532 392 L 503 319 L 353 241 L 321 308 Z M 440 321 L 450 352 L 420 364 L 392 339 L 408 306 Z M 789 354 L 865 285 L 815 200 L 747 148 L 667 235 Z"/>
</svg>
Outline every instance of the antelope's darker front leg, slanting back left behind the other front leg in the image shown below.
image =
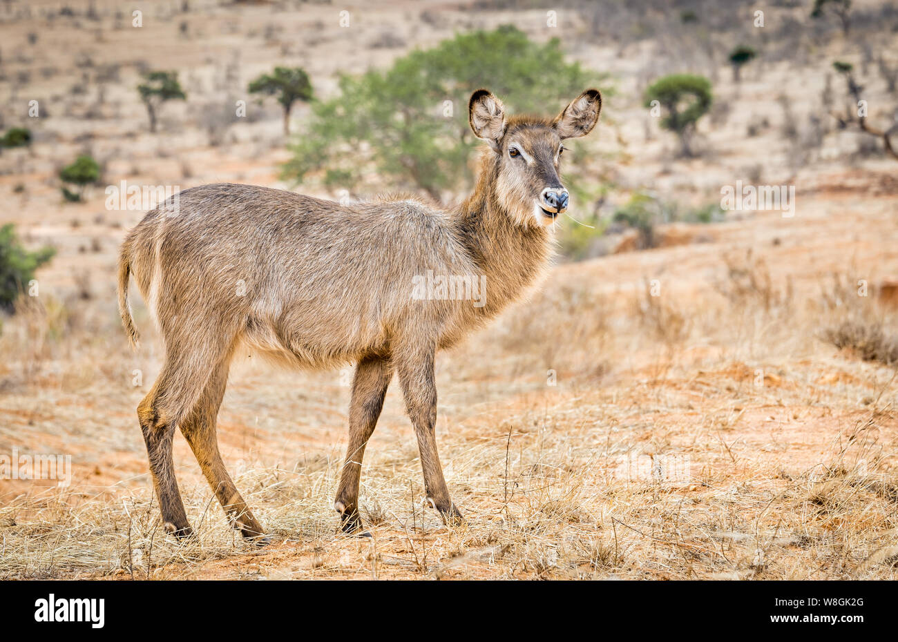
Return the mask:
<svg viewBox="0 0 898 642">
<path fill-rule="evenodd" d="M 374 433 L 377 419 L 381 416 L 383 398 L 391 378 L 392 365 L 388 359 L 365 358 L 356 366 L 352 400 L 349 402 L 349 444 L 334 502 L 334 507 L 340 514 L 340 529 L 343 532 L 370 537 L 358 514 L 358 484 L 362 475 L 365 444 Z"/>
</svg>

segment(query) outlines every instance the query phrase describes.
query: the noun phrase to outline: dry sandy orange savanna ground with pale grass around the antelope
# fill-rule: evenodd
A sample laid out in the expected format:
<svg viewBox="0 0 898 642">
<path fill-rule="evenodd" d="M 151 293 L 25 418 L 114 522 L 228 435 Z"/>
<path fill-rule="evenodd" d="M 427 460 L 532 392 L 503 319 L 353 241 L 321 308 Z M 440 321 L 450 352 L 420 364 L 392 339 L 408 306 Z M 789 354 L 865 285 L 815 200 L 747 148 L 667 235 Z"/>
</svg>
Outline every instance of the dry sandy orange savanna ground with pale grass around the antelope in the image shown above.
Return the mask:
<svg viewBox="0 0 898 642">
<path fill-rule="evenodd" d="M 238 488 L 275 535 L 256 549 L 228 528 L 180 435 L 175 463 L 198 541 L 164 534 L 135 413 L 160 347 L 138 304 L 145 342 L 131 352 L 114 302 L 117 247 L 142 213 L 106 210 L 101 189 L 63 205 L 59 167 L 86 149 L 109 184 L 290 187 L 278 180 L 289 153 L 270 102 L 220 130 L 204 105 L 283 61 L 327 92 L 338 70 L 387 64 L 453 31 L 512 22 L 536 40 L 555 34 L 541 4 L 346 3 L 355 21 L 346 29 L 344 7 L 330 4 L 190 2 L 183 12 L 156 2 L 144 3 L 139 31 L 127 12 L 97 3 L 94 20 L 87 3 L 68 4 L 75 16 L 32 2 L 28 17 L 13 2 L 0 23 L 4 127 L 25 120 L 32 96 L 48 113 L 31 125 L 31 148 L 0 156 L 0 222 L 57 247 L 40 296 L 4 317 L 0 453 L 72 462 L 65 487 L 0 480 L 0 577 L 898 576 L 898 163 L 868 136 L 836 129 L 822 106 L 842 92 L 841 79 L 827 80 L 832 58 L 862 65 L 861 41 L 894 53 L 895 31 L 858 20 L 854 40 L 834 27 L 773 38 L 774 53 L 736 87 L 719 51 L 687 48 L 673 27 L 652 31 L 667 25 L 664 12 L 647 13 L 640 31 L 621 5 L 598 17 L 550 7 L 569 55 L 615 88 L 582 154 L 595 180 L 613 182 L 612 199 L 647 188 L 700 204 L 735 180 L 788 183 L 795 215 L 669 225 L 659 248 L 561 263 L 529 302 L 441 355 L 437 436 L 464 526 L 421 506 L 418 449 L 394 382 L 365 453 L 362 513 L 374 537 L 337 534 L 349 370 L 283 372 L 243 356 L 218 434 Z M 857 4 L 871 15 L 883 6 Z M 752 11 L 738 7 L 726 10 L 750 28 Z M 807 12 L 771 7 L 765 29 Z M 165 106 L 156 136 L 134 91 L 146 60 L 179 69 L 192 90 Z M 700 128 L 691 159 L 675 157 L 673 136 L 641 101 L 647 81 L 682 69 L 712 77 L 726 106 Z M 875 115 L 894 109 L 874 69 L 864 80 Z"/>
</svg>

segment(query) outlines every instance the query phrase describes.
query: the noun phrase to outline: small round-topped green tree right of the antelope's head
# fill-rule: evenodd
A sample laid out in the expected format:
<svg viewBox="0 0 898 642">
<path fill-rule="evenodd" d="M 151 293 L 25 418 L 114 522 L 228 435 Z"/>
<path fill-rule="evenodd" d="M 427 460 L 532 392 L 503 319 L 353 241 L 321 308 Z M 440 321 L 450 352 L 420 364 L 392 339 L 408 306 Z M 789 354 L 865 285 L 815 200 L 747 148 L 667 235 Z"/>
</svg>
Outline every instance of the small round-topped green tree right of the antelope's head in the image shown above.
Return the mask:
<svg viewBox="0 0 898 642">
<path fill-rule="evenodd" d="M 646 90 L 646 107 L 654 107 L 658 101 L 667 115 L 661 120 L 661 127 L 680 136 L 682 154 L 691 156 L 691 136 L 696 123 L 708 113 L 713 101 L 708 78 L 700 75 L 665 75 Z"/>
</svg>

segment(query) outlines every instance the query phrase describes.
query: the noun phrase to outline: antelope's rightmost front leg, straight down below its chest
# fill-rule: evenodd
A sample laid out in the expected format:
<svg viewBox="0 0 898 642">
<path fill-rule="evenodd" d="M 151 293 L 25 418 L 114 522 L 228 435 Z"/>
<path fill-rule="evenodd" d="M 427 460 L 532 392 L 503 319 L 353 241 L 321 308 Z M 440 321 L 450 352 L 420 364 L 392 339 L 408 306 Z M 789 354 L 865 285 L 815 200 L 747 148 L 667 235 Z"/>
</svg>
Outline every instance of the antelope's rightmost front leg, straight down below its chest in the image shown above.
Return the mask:
<svg viewBox="0 0 898 642">
<path fill-rule="evenodd" d="M 435 349 L 413 350 L 397 358 L 402 395 L 405 398 L 424 469 L 424 490 L 427 501 L 442 515 L 447 524 L 462 523 L 462 514 L 449 497 L 443 478 L 443 467 L 436 453 L 436 379 L 434 376 Z"/>
</svg>

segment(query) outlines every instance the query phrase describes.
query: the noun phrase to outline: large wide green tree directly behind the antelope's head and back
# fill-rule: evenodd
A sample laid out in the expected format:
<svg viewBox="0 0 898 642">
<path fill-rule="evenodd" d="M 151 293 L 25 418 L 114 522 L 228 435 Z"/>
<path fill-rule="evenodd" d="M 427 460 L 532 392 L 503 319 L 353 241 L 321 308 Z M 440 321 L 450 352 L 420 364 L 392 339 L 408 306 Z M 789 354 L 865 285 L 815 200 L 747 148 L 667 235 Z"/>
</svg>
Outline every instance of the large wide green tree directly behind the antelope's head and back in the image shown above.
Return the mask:
<svg viewBox="0 0 898 642">
<path fill-rule="evenodd" d="M 462 186 L 479 144 L 468 126 L 471 92 L 489 87 L 516 110 L 544 113 L 599 79 L 568 63 L 558 39 L 538 44 L 513 26 L 459 34 L 389 69 L 343 75 L 338 96 L 313 102 L 285 178 L 326 169 L 325 182 L 346 185 L 375 169 L 396 187 L 439 200 L 444 189 Z"/>
</svg>

